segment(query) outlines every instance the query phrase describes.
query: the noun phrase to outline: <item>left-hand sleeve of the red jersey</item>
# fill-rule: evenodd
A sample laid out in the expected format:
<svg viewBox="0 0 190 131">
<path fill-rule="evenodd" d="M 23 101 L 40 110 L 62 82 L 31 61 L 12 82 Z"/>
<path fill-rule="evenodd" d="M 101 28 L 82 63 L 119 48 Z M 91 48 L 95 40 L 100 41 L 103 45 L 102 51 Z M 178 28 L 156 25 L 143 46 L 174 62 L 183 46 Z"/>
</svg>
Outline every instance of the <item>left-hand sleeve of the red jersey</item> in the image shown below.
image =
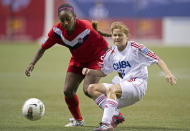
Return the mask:
<svg viewBox="0 0 190 131">
<path fill-rule="evenodd" d="M 49 48 L 51 48 L 56 43 L 57 43 L 57 38 L 56 38 L 55 33 L 53 31 L 53 28 L 52 28 L 50 30 L 50 32 L 48 33 L 48 37 L 42 43 L 41 47 L 43 49 L 49 49 Z"/>
</svg>

